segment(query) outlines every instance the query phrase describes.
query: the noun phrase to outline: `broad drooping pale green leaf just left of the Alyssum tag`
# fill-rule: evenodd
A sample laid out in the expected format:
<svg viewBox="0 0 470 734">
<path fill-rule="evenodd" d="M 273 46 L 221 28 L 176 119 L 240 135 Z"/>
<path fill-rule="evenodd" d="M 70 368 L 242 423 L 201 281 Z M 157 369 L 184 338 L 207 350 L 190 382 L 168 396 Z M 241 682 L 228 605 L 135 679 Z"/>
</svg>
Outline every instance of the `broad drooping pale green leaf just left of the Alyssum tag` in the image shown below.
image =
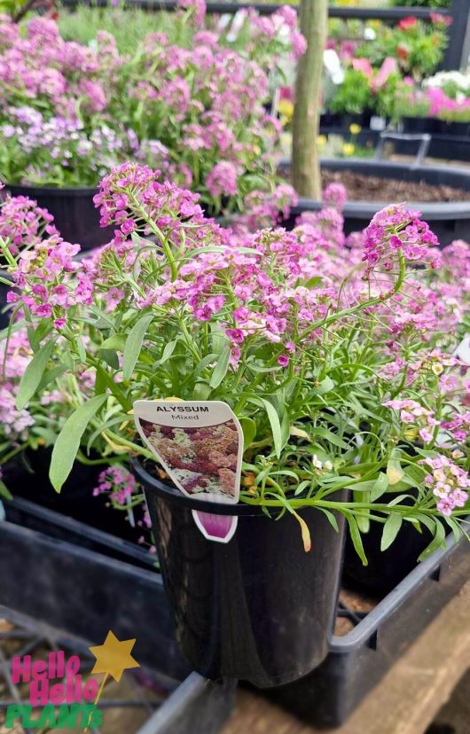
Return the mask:
<svg viewBox="0 0 470 734">
<path fill-rule="evenodd" d="M 107 395 L 95 395 L 88 402 L 83 402 L 80 408 L 77 408 L 62 426 L 52 449 L 51 468 L 49 470 L 49 479 L 56 492 L 60 492 L 62 485 L 72 471 L 74 459 L 80 448 L 80 441 L 86 427 L 106 399 Z"/>
</svg>

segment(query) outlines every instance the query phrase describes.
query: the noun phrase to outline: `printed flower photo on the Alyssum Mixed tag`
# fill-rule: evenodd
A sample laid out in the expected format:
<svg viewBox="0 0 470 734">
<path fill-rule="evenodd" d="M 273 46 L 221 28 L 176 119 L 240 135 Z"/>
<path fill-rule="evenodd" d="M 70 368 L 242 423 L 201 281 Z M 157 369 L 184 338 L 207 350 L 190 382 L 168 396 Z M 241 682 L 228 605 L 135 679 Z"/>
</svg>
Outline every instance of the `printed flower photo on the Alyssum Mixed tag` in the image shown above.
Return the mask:
<svg viewBox="0 0 470 734">
<path fill-rule="evenodd" d="M 239 433 L 233 420 L 217 426 L 158 426 L 141 419 L 146 438 L 188 495 L 236 497 Z"/>
</svg>

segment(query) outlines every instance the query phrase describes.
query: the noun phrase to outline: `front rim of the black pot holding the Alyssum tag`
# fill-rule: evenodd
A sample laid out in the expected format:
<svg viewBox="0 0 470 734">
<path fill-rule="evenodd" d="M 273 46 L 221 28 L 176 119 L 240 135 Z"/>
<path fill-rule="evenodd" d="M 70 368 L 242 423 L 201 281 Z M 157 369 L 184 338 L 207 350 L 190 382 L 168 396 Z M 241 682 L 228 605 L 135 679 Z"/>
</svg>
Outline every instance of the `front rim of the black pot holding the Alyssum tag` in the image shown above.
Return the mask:
<svg viewBox="0 0 470 734">
<path fill-rule="evenodd" d="M 147 472 L 139 459 L 131 458 L 130 465 L 132 466 L 133 472 L 137 474 L 138 479 L 144 482 L 145 488 L 153 491 L 156 495 L 161 497 L 161 499 L 166 500 L 171 504 L 176 504 L 179 507 L 185 507 L 188 510 L 210 512 L 212 515 L 229 515 L 231 517 L 259 517 L 263 514 L 266 515 L 266 511 L 269 511 L 273 515 L 277 515 L 278 512 L 284 510 L 282 507 L 267 507 L 265 505 L 245 504 L 242 502 L 239 502 L 238 504 L 229 504 L 226 502 L 213 502 L 211 500 L 201 500 L 195 497 L 188 497 L 175 486 L 165 484 L 154 477 L 151 473 Z M 271 517 L 270 519 L 275 520 L 276 517 Z"/>
</svg>

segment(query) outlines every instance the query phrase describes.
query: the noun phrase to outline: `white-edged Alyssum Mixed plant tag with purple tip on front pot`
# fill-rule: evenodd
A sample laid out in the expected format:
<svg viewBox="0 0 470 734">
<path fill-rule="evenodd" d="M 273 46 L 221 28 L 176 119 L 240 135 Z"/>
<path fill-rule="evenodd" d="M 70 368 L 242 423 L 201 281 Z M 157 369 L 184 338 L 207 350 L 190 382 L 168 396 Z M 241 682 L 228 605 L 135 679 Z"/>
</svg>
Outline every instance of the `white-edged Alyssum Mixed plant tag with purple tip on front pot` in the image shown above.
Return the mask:
<svg viewBox="0 0 470 734">
<path fill-rule="evenodd" d="M 137 431 L 169 478 L 188 497 L 237 504 L 243 431 L 221 401 L 137 400 Z M 199 510 L 192 517 L 208 540 L 228 543 L 238 518 Z"/>
</svg>

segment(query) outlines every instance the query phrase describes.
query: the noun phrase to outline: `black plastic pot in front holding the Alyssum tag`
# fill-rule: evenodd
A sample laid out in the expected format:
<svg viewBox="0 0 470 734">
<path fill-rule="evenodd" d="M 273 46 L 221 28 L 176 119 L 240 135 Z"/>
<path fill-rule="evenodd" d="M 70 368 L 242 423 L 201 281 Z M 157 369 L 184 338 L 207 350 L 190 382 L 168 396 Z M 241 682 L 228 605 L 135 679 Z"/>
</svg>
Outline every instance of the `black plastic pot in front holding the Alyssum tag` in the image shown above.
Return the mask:
<svg viewBox="0 0 470 734">
<path fill-rule="evenodd" d="M 155 466 L 155 465 L 153 465 Z M 184 658 L 209 678 L 239 678 L 265 688 L 294 681 L 324 660 L 339 590 L 343 523 L 305 508 L 311 551 L 286 511 L 184 496 L 138 461 L 163 581 Z M 207 540 L 192 510 L 238 518 L 229 543 Z"/>
</svg>

